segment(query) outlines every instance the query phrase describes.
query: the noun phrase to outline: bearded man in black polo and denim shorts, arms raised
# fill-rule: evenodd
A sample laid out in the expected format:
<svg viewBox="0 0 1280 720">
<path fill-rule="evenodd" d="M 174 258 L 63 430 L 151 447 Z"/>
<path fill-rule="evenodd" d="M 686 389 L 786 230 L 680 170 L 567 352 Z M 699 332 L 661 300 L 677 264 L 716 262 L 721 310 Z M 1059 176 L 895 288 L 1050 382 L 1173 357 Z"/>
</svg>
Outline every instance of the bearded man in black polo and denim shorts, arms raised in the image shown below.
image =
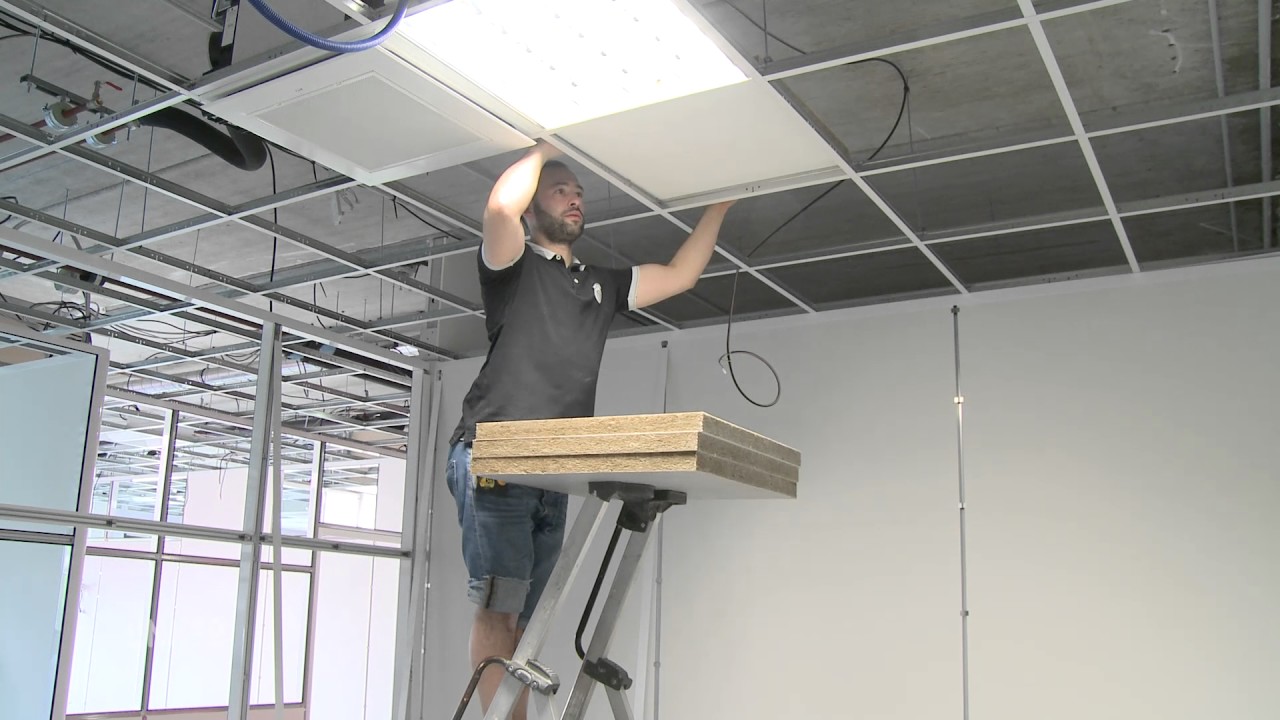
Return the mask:
<svg viewBox="0 0 1280 720">
<path fill-rule="evenodd" d="M 568 498 L 474 477 L 475 425 L 594 415 L 614 315 L 691 290 L 732 205 L 707 208 L 667 264 L 588 266 L 572 250 L 586 223 L 582 186 L 557 155 L 557 149 L 538 142 L 489 195 L 476 259 L 489 352 L 463 401 L 445 469 L 462 528 L 467 597 L 477 606 L 471 666 L 480 673 L 485 710 L 507 671 L 499 659 L 513 656 L 556 566 Z M 526 694 L 512 711 L 516 720 L 526 717 Z"/>
</svg>

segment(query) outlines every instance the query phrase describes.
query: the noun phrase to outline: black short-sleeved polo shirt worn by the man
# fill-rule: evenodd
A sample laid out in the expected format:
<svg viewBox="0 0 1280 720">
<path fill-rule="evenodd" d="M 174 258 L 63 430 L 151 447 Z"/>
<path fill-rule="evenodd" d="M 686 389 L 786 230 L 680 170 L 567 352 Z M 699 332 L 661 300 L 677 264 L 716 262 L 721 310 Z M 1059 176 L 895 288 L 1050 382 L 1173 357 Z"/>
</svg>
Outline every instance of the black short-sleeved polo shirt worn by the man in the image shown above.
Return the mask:
<svg viewBox="0 0 1280 720">
<path fill-rule="evenodd" d="M 515 263 L 489 268 L 476 252 L 489 356 L 462 401 L 451 442 L 476 423 L 586 418 L 613 316 L 635 310 L 636 268 L 571 266 L 531 242 Z"/>
</svg>

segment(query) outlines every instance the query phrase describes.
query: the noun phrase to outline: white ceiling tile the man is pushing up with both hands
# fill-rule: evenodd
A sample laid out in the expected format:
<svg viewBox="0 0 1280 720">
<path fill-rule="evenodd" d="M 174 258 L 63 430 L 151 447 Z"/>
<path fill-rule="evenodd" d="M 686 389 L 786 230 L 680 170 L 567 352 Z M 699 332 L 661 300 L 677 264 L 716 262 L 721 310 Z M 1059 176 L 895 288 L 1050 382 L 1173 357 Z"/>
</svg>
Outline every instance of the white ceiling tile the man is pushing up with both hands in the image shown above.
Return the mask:
<svg viewBox="0 0 1280 720">
<path fill-rule="evenodd" d="M 571 126 L 559 135 L 664 202 L 835 165 L 768 85 L 745 82 Z"/>
</svg>

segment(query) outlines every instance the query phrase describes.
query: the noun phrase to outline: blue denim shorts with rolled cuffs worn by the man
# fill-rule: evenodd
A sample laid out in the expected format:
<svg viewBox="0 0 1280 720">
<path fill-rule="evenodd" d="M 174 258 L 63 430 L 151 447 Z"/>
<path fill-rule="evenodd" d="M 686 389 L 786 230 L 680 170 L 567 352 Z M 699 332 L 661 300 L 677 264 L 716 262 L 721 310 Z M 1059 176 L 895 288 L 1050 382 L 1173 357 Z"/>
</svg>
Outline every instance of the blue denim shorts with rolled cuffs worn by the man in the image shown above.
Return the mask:
<svg viewBox="0 0 1280 720">
<path fill-rule="evenodd" d="M 467 597 L 524 628 L 564 541 L 568 496 L 471 474 L 471 445 L 456 442 L 445 469 L 458 506 Z"/>
</svg>

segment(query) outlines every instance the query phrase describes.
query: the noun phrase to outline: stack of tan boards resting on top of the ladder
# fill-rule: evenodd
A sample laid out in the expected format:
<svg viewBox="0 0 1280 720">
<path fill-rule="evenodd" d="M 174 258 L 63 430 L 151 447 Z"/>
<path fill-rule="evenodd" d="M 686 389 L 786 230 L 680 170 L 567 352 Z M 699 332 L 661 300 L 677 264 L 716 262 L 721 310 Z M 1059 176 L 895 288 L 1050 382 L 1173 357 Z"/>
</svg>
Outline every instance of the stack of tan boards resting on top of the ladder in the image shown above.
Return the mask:
<svg viewBox="0 0 1280 720">
<path fill-rule="evenodd" d="M 593 480 L 689 500 L 796 497 L 800 452 L 705 413 L 480 423 L 476 477 L 586 495 Z"/>
</svg>

